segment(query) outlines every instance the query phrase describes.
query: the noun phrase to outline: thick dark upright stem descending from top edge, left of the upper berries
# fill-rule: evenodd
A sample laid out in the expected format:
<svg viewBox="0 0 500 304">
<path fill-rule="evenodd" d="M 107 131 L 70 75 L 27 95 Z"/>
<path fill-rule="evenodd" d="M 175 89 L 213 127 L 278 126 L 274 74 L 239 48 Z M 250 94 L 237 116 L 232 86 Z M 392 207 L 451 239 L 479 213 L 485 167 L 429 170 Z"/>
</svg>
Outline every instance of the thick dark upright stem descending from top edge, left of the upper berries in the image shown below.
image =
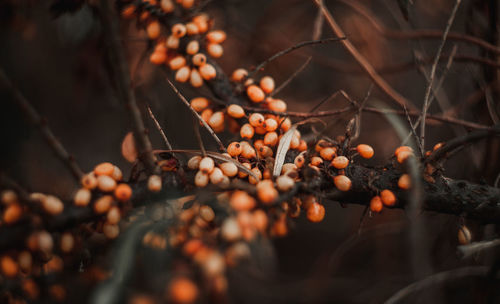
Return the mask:
<svg viewBox="0 0 500 304">
<path fill-rule="evenodd" d="M 116 12 L 107 0 L 101 0 L 100 17 L 104 35 L 103 40 L 108 46 L 111 78 L 115 83 L 118 99 L 124 104 L 132 121 L 132 130 L 139 150 L 139 158 L 150 173 L 159 173 L 155 156 L 152 153 L 153 147 L 132 90 L 130 71 L 125 58 L 124 47 L 121 43 Z"/>
</svg>

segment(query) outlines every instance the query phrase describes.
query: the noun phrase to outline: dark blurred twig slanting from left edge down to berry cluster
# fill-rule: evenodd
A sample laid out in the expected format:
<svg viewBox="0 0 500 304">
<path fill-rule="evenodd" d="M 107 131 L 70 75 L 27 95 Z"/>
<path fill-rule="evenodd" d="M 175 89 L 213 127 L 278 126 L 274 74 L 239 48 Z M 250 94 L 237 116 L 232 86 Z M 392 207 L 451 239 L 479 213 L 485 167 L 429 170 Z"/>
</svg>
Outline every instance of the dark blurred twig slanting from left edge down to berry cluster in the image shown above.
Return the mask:
<svg viewBox="0 0 500 304">
<path fill-rule="evenodd" d="M 0 68 L 0 83 L 3 87 L 10 91 L 13 100 L 21 108 L 23 113 L 28 117 L 30 122 L 38 127 L 47 144 L 52 148 L 52 151 L 59 157 L 63 163 L 69 168 L 75 179 L 78 181 L 83 176 L 83 171 L 75 161 L 75 158 L 66 151 L 61 142 L 56 138 L 52 130 L 47 124 L 47 120 L 38 114 L 36 109 L 26 99 L 26 97 L 14 86 L 12 81 L 7 77 L 4 70 Z"/>
</svg>

